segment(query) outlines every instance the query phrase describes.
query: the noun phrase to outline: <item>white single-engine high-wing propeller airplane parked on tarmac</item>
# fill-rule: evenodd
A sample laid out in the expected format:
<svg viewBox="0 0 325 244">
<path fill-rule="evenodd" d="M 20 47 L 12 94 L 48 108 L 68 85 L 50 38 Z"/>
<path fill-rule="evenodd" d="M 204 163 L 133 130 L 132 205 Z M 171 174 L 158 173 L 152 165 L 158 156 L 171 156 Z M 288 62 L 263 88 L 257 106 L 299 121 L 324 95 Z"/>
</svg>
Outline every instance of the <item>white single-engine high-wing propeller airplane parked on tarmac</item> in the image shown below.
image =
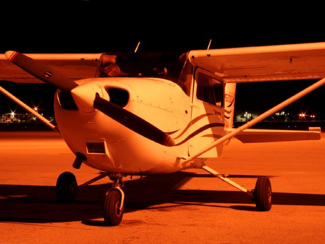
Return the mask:
<svg viewBox="0 0 325 244">
<path fill-rule="evenodd" d="M 309 131 L 254 130 L 258 121 L 325 83 L 325 43 L 192 50 L 187 53 L 96 53 L 0 55 L 0 80 L 46 82 L 57 88 L 57 125 L 7 90 L 0 91 L 60 133 L 76 156 L 102 174 L 78 186 L 70 172 L 56 183 L 59 203 L 73 202 L 77 189 L 108 176 L 104 220 L 123 217 L 123 177 L 163 174 L 190 168 L 206 170 L 247 193 L 261 211 L 272 206 L 268 177 L 253 190 L 205 165 L 218 158 L 231 138 L 242 142 L 318 140 Z M 320 80 L 300 93 L 233 128 L 236 83 L 272 80 Z"/>
</svg>

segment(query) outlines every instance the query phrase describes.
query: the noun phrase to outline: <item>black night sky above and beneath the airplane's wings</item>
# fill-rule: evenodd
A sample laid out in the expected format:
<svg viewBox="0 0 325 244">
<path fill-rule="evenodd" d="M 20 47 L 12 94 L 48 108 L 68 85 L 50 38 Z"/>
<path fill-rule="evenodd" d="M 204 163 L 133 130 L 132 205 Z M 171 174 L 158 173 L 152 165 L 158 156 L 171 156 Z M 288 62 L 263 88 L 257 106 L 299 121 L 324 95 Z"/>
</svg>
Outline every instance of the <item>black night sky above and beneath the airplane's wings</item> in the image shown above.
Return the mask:
<svg viewBox="0 0 325 244">
<path fill-rule="evenodd" d="M 183 3 L 134 3 L 107 1 L 72 1 L 69 5 L 48 2 L 38 5 L 0 6 L 0 53 L 73 53 L 133 51 L 188 51 L 325 41 L 324 20 L 317 5 L 284 7 L 272 2 L 268 6 L 222 3 L 211 6 L 200 1 Z M 211 2 L 210 2 L 211 3 Z M 13 19 L 18 19 L 13 23 Z M 264 111 L 299 92 L 310 81 L 285 81 L 239 84 L 236 110 Z M 40 104 L 51 113 L 54 89 L 47 85 L 6 85 L 28 105 Z M 291 113 L 307 111 L 325 119 L 325 87 L 286 108 Z M 0 112 L 18 106 L 0 95 Z M 17 112 L 24 112 L 18 109 Z"/>
</svg>

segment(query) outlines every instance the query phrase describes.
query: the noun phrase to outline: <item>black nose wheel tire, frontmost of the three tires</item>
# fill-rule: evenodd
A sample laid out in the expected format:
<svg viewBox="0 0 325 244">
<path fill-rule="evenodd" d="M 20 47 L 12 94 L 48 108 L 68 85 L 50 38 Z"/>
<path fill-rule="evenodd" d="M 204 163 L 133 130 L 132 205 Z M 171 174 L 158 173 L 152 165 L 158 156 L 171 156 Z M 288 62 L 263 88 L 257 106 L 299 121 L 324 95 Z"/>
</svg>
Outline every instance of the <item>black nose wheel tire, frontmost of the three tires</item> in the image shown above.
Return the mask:
<svg viewBox="0 0 325 244">
<path fill-rule="evenodd" d="M 123 218 L 123 210 L 120 211 L 121 195 L 117 190 L 110 190 L 106 194 L 104 203 L 104 221 L 109 226 L 117 226 Z"/>
</svg>

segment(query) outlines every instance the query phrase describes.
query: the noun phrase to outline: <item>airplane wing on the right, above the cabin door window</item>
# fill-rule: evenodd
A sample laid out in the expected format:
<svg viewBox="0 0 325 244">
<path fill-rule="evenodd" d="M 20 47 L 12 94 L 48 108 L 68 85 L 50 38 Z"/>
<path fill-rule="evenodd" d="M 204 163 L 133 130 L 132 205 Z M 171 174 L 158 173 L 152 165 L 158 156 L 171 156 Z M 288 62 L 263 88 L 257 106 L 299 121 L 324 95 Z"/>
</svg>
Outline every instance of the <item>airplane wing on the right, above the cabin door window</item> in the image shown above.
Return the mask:
<svg viewBox="0 0 325 244">
<path fill-rule="evenodd" d="M 325 42 L 193 50 L 188 58 L 229 83 L 325 77 Z"/>
</svg>

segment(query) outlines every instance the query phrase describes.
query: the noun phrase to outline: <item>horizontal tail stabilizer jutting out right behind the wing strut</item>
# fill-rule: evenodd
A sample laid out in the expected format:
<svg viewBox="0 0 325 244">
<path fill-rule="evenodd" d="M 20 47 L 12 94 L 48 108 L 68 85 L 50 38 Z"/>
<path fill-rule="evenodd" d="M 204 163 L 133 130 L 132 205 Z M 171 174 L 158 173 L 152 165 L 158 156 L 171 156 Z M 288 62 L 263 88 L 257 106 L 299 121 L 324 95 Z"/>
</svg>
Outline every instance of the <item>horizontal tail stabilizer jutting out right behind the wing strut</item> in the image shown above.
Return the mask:
<svg viewBox="0 0 325 244">
<path fill-rule="evenodd" d="M 235 138 L 243 143 L 320 140 L 320 127 L 309 127 L 309 131 L 246 129 Z"/>
</svg>

